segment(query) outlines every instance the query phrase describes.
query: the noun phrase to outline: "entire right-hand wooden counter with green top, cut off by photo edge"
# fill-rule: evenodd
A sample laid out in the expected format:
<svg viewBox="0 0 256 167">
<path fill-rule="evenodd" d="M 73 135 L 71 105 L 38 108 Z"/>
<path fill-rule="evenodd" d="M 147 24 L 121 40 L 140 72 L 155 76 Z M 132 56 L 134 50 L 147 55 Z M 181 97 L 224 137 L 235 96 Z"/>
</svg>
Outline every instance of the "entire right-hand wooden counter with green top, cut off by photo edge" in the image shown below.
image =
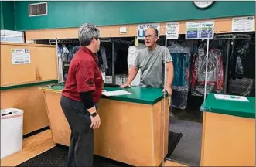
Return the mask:
<svg viewBox="0 0 256 167">
<path fill-rule="evenodd" d="M 219 100 L 209 94 L 201 107 L 201 166 L 255 165 L 255 98 Z"/>
</svg>

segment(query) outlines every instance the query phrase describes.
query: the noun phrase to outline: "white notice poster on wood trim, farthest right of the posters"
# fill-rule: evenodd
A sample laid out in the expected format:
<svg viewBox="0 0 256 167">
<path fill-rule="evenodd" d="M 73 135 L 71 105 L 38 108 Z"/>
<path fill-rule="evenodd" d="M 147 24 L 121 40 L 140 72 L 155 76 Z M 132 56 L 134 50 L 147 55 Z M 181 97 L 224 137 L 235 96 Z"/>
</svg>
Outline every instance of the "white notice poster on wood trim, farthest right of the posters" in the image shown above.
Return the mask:
<svg viewBox="0 0 256 167">
<path fill-rule="evenodd" d="M 232 32 L 254 31 L 254 16 L 239 17 L 232 19 Z"/>
</svg>

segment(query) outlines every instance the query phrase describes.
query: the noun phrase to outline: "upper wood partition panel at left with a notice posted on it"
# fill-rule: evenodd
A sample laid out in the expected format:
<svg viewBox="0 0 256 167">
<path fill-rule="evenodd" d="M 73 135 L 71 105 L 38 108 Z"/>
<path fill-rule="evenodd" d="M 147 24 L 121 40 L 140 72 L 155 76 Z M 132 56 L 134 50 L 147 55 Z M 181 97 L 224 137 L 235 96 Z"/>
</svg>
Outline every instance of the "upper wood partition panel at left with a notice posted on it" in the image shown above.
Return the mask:
<svg viewBox="0 0 256 167">
<path fill-rule="evenodd" d="M 12 49 L 29 49 L 31 63 L 12 64 Z M 1 87 L 56 80 L 56 46 L 1 43 Z"/>
</svg>

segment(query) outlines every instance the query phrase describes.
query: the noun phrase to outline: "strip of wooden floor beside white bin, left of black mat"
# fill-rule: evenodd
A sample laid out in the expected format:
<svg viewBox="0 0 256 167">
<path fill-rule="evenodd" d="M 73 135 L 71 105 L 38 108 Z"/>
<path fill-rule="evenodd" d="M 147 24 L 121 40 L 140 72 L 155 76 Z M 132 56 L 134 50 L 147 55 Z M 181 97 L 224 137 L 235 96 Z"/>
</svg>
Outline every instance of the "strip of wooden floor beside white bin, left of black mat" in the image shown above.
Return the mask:
<svg viewBox="0 0 256 167">
<path fill-rule="evenodd" d="M 23 140 L 22 151 L 1 159 L 1 166 L 17 166 L 55 146 L 50 130 Z"/>
</svg>

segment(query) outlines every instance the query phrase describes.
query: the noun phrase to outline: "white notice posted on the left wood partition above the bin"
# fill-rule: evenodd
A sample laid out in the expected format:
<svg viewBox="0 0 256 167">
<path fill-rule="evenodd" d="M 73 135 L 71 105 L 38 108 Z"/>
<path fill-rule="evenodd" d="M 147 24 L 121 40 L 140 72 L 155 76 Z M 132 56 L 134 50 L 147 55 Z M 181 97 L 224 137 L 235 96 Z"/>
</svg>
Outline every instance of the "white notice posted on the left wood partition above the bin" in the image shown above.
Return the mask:
<svg viewBox="0 0 256 167">
<path fill-rule="evenodd" d="M 12 49 L 12 64 L 30 63 L 29 49 Z"/>
</svg>

